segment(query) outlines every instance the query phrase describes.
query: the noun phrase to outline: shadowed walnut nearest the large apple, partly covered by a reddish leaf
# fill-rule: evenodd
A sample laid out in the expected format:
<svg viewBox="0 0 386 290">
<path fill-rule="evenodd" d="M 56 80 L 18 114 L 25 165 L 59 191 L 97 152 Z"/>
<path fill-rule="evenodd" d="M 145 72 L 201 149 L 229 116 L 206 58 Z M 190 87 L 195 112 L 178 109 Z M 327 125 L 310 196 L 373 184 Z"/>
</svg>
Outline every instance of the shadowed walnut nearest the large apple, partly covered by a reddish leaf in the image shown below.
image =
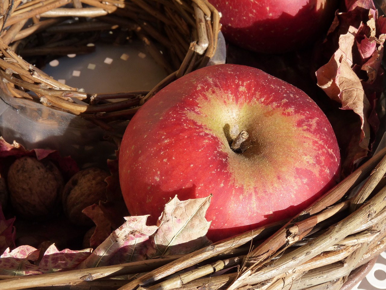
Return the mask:
<svg viewBox="0 0 386 290">
<path fill-rule="evenodd" d="M 87 206 L 106 201 L 107 183 L 110 174 L 103 169 L 90 167 L 74 174 L 64 186 L 63 209 L 68 219 L 77 225 L 93 225 L 92 220 L 82 210 Z"/>
</svg>

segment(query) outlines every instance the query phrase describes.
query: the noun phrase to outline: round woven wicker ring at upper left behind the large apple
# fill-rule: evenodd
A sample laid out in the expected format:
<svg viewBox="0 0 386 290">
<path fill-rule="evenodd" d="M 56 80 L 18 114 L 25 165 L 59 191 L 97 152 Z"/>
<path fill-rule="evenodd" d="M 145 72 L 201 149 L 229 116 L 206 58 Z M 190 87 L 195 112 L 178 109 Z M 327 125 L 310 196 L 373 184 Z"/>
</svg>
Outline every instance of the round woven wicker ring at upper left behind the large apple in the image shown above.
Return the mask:
<svg viewBox="0 0 386 290">
<path fill-rule="evenodd" d="M 9 94 L 106 130 L 176 78 L 207 65 L 220 28 L 218 12 L 206 0 L 3 0 L 0 15 L 0 75 Z M 103 38 L 104 31 L 116 32 L 115 43 L 137 36 L 168 77 L 147 92 L 94 94 L 61 84 L 25 60 L 90 52 L 94 48 L 87 44 Z M 120 98 L 124 101 L 116 101 Z"/>
</svg>

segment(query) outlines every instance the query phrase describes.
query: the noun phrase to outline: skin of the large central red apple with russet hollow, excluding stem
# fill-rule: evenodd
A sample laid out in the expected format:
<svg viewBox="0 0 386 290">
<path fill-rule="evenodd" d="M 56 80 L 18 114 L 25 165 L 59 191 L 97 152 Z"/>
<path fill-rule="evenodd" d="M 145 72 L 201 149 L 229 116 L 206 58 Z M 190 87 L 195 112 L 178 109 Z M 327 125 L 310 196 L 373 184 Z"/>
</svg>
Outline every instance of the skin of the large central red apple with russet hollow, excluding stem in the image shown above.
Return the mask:
<svg viewBox="0 0 386 290">
<path fill-rule="evenodd" d="M 229 143 L 240 130 L 244 152 Z M 131 215 L 213 194 L 208 238 L 293 217 L 337 183 L 340 154 L 325 114 L 303 91 L 257 68 L 214 65 L 179 78 L 134 115 L 119 153 Z"/>
</svg>

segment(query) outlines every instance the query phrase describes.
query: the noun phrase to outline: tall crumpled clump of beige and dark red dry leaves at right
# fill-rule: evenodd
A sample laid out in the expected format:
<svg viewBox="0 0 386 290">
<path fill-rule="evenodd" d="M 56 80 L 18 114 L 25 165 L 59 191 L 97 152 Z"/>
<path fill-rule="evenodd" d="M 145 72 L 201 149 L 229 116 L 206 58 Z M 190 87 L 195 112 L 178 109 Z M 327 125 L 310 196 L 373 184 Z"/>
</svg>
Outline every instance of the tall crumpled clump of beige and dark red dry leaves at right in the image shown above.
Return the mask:
<svg viewBox="0 0 386 290">
<path fill-rule="evenodd" d="M 323 43 L 326 54 L 331 48 L 337 49 L 316 76 L 318 86 L 339 102 L 341 109 L 352 110 L 360 118 L 360 130 L 346 128 L 350 140 L 345 141 L 348 146 L 340 146 L 345 150 L 342 169 L 347 175 L 358 160 L 367 156 L 379 127 L 375 107 L 382 92 L 381 60 L 386 26 L 385 18 L 378 17 L 372 1 L 345 3 L 346 12 L 336 14 Z"/>
</svg>

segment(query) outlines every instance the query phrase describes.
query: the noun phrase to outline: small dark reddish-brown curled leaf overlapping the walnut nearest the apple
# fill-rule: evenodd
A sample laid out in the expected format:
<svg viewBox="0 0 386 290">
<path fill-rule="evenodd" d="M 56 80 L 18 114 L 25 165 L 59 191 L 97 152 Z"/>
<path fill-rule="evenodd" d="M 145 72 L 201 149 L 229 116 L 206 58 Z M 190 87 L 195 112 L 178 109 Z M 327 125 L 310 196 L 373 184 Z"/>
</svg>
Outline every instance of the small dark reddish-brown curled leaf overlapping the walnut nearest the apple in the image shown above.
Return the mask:
<svg viewBox="0 0 386 290">
<path fill-rule="evenodd" d="M 105 214 L 98 205 L 90 205 L 82 210 L 82 212 L 91 218 L 97 226 L 90 238 L 90 246 L 95 249 L 111 234 L 111 222 L 105 217 Z"/>
</svg>

